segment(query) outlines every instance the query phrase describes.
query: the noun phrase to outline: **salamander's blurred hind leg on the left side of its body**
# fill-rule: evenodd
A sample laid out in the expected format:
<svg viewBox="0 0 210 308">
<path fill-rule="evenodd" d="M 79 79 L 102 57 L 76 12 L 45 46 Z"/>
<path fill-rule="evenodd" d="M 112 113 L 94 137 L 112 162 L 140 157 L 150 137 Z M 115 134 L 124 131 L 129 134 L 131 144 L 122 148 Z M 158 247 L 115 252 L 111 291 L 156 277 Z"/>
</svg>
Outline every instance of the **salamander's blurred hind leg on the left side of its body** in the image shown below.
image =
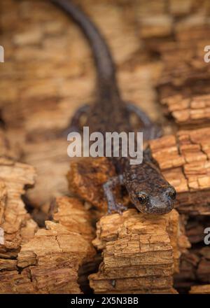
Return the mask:
<svg viewBox="0 0 210 308">
<path fill-rule="evenodd" d="M 73 118 L 71 118 L 71 122 L 69 123 L 68 127 L 62 131 L 62 136 L 67 136 L 70 132 L 80 132 L 81 125 L 80 120 L 81 117 L 88 113 L 90 110 L 90 105 L 83 105 L 81 106 L 76 113 L 74 113 Z"/>
</svg>

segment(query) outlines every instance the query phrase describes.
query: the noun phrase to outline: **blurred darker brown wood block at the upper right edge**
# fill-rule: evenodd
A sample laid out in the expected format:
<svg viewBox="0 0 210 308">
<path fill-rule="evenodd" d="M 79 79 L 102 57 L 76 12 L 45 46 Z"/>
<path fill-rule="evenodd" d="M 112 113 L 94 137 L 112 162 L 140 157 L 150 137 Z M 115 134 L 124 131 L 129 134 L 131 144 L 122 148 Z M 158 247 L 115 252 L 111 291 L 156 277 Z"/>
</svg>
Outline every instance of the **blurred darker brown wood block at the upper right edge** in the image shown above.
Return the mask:
<svg viewBox="0 0 210 308">
<path fill-rule="evenodd" d="M 204 61 L 210 33 L 207 15 L 182 18 L 174 23 L 173 32 L 174 38 L 156 46 L 162 59 L 157 87 L 163 111 L 179 125 L 208 125 L 210 66 Z"/>
</svg>

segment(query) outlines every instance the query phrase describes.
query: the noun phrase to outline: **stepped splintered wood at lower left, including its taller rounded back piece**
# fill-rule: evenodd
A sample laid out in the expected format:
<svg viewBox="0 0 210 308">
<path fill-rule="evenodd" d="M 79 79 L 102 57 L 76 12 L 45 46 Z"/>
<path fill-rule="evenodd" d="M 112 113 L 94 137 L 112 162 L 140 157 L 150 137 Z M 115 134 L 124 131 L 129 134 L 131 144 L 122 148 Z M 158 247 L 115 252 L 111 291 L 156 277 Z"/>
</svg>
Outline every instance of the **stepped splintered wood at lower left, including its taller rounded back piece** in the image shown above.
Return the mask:
<svg viewBox="0 0 210 308">
<path fill-rule="evenodd" d="M 0 274 L 1 293 L 81 293 L 79 267 L 95 254 L 90 217 L 75 198 L 58 199 L 56 208 L 57 223 L 46 221 L 46 230 L 39 229 L 4 267 L 9 271 Z"/>
</svg>

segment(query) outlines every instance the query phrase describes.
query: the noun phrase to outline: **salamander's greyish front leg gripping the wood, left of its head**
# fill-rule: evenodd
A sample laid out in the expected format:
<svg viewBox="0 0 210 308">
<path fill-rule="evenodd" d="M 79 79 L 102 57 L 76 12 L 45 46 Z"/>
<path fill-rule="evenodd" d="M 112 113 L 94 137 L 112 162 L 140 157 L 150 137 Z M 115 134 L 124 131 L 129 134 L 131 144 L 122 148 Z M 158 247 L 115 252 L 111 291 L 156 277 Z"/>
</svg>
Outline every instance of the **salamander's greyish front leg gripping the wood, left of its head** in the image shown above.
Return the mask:
<svg viewBox="0 0 210 308">
<path fill-rule="evenodd" d="M 123 204 L 117 203 L 116 198 L 113 194 L 113 188 L 118 184 L 123 185 L 123 175 L 113 176 L 106 183 L 104 183 L 104 195 L 108 203 L 108 214 L 111 214 L 112 211 L 117 211 L 119 214 L 122 214 L 123 211 L 127 209 Z"/>
</svg>

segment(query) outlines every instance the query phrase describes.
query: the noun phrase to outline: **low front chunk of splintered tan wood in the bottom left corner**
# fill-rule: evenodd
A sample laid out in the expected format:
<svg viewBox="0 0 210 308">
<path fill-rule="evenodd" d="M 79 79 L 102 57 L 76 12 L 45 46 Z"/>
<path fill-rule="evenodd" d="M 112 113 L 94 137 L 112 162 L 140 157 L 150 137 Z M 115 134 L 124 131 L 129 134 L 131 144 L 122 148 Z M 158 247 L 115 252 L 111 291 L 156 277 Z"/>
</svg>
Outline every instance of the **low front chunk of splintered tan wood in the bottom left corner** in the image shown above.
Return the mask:
<svg viewBox="0 0 210 308">
<path fill-rule="evenodd" d="M 22 246 L 18 254 L 22 272 L 3 272 L 1 293 L 80 293 L 77 270 L 90 246 L 61 225 L 48 222 L 47 228 Z"/>
</svg>

